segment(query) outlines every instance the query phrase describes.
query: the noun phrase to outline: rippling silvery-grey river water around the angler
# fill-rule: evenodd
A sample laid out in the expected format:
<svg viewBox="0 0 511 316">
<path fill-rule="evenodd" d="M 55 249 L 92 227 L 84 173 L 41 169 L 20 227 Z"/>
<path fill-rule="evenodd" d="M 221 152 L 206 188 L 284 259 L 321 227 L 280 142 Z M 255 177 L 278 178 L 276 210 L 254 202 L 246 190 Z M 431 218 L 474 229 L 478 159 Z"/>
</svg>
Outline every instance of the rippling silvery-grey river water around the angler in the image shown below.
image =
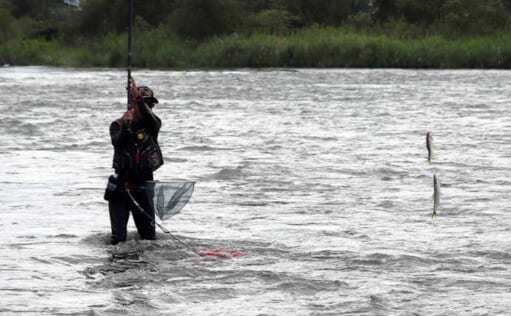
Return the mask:
<svg viewBox="0 0 511 316">
<path fill-rule="evenodd" d="M 2 315 L 504 315 L 511 72 L 136 71 L 163 120 L 160 233 L 107 245 L 125 73 L 0 68 Z M 427 162 L 425 135 L 434 137 Z M 432 217 L 433 174 L 442 183 Z"/>
</svg>

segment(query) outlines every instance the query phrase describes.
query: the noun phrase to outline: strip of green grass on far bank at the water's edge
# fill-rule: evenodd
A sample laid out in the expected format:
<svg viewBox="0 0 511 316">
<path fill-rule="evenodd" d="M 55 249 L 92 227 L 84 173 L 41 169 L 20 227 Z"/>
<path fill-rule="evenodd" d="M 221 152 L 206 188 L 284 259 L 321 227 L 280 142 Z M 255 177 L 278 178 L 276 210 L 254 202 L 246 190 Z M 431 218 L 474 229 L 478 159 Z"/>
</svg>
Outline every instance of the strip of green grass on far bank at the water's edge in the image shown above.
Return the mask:
<svg viewBox="0 0 511 316">
<path fill-rule="evenodd" d="M 511 68 L 511 34 L 401 37 L 312 27 L 288 35 L 243 34 L 185 41 L 153 29 L 135 35 L 135 64 L 148 68 Z M 141 40 L 143 39 L 143 40 Z M 126 35 L 66 45 L 43 39 L 0 44 L 0 63 L 71 67 L 126 64 Z"/>
</svg>

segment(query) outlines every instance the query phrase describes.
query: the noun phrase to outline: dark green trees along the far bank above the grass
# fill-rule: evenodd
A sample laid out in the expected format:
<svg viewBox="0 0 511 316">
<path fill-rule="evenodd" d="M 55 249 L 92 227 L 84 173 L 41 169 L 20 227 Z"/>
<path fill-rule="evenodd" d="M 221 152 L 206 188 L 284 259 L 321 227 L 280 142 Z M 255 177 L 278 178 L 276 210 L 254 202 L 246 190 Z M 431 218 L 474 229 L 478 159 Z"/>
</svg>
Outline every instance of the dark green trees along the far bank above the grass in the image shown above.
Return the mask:
<svg viewBox="0 0 511 316">
<path fill-rule="evenodd" d="M 313 26 L 482 35 L 511 25 L 511 0 L 135 0 L 136 27 L 201 41 L 229 34 L 286 35 Z M 127 29 L 128 0 L 0 0 L 0 43 L 42 37 L 80 43 Z"/>
</svg>

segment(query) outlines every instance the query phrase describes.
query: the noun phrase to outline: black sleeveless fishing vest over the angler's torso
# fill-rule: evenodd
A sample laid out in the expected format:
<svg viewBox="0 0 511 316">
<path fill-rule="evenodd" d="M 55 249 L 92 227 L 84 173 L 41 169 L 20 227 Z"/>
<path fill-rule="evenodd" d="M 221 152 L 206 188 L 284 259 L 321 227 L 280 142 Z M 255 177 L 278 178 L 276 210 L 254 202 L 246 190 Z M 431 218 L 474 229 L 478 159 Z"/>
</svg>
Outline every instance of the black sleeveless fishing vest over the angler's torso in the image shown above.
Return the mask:
<svg viewBox="0 0 511 316">
<path fill-rule="evenodd" d="M 116 121 L 122 124 L 121 120 Z M 128 131 L 123 146 L 114 148 L 113 168 L 127 178 L 148 180 L 152 173 L 163 165 L 163 156 L 158 145 L 158 135 L 152 135 L 146 128 Z"/>
</svg>

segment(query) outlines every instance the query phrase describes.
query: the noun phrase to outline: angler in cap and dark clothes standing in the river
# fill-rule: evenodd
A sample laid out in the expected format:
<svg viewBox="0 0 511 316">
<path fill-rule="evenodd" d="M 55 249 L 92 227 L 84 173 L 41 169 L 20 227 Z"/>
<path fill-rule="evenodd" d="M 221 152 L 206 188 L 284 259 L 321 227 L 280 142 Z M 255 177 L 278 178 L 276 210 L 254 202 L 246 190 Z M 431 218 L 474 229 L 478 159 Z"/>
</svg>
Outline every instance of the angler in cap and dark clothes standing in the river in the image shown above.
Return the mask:
<svg viewBox="0 0 511 316">
<path fill-rule="evenodd" d="M 158 144 L 161 120 L 152 109 L 158 100 L 148 87 L 129 81 L 130 105 L 110 125 L 114 147 L 113 168 L 105 192 L 112 227 L 111 243 L 126 240 L 130 211 L 142 239 L 156 239 L 153 172 L 163 164 Z M 138 205 L 137 205 L 138 204 Z"/>
</svg>

